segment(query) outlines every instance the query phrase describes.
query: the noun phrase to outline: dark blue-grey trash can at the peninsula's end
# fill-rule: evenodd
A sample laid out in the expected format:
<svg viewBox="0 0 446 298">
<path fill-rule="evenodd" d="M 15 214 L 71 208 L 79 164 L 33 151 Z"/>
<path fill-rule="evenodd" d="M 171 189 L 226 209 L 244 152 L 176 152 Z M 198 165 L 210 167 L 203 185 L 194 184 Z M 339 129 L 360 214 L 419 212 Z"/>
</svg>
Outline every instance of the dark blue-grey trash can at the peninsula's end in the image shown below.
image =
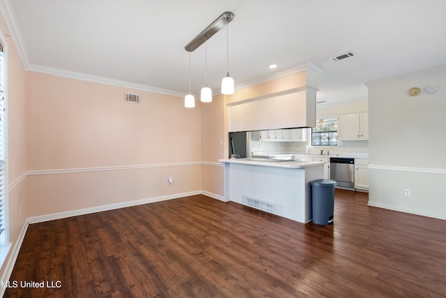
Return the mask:
<svg viewBox="0 0 446 298">
<path fill-rule="evenodd" d="M 313 223 L 318 225 L 333 223 L 336 181 L 321 179 L 310 183 L 312 184 Z"/>
</svg>

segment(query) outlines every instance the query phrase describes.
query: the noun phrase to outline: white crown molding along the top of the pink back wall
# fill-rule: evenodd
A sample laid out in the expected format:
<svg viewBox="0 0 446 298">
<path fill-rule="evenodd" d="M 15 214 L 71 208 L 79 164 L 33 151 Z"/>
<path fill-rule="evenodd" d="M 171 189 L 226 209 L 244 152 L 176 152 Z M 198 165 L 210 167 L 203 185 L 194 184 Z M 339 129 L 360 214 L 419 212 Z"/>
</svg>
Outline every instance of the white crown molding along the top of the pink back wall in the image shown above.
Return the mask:
<svg viewBox="0 0 446 298">
<path fill-rule="evenodd" d="M 95 75 L 87 75 L 85 73 L 75 73 L 74 71 L 68 71 L 68 70 L 63 70 L 63 69 L 59 69 L 59 68 L 38 66 L 36 64 L 29 64 L 29 66 L 26 68 L 26 70 L 34 71 L 36 73 L 47 73 L 49 75 L 57 75 L 59 77 L 69 77 L 70 79 L 75 79 L 75 80 L 83 80 L 83 81 L 87 81 L 87 82 L 95 82 L 95 83 L 100 83 L 100 84 L 107 84 L 107 85 L 112 85 L 112 86 L 149 91 L 149 92 L 154 92 L 157 94 L 167 94 L 167 95 L 179 96 L 179 97 L 185 96 L 183 93 L 177 92 L 177 91 L 151 87 L 151 86 L 143 85 L 143 84 L 135 84 L 132 82 L 113 80 L 113 79 L 109 79 L 107 77 L 98 77 Z"/>
</svg>

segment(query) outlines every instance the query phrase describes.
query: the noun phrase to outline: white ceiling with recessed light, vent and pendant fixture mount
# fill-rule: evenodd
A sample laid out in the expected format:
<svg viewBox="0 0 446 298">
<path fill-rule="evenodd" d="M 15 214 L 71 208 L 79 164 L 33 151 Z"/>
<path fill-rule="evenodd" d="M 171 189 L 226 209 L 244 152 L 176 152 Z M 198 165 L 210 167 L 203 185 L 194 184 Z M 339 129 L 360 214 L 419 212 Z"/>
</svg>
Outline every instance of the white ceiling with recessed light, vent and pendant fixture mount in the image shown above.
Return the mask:
<svg viewBox="0 0 446 298">
<path fill-rule="evenodd" d="M 309 61 L 323 68 L 317 100 L 336 103 L 367 98 L 364 82 L 446 66 L 445 0 L 1 1 L 27 69 L 167 94 L 187 94 L 184 47 L 224 11 L 235 15 L 229 72 L 236 88 Z M 191 54 L 194 94 L 204 85 L 204 48 Z M 357 55 L 330 61 L 348 51 Z M 208 86 L 220 93 L 226 28 L 208 40 L 207 61 Z"/>
</svg>

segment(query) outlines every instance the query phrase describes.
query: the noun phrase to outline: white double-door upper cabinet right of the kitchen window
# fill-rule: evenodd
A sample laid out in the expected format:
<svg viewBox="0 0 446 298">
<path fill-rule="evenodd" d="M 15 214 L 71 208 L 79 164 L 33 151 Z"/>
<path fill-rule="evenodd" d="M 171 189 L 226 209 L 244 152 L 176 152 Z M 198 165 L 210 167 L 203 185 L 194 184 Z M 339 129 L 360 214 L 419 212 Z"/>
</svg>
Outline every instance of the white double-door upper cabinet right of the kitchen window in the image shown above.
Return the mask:
<svg viewBox="0 0 446 298">
<path fill-rule="evenodd" d="M 339 140 L 369 140 L 369 113 L 339 116 Z"/>
</svg>

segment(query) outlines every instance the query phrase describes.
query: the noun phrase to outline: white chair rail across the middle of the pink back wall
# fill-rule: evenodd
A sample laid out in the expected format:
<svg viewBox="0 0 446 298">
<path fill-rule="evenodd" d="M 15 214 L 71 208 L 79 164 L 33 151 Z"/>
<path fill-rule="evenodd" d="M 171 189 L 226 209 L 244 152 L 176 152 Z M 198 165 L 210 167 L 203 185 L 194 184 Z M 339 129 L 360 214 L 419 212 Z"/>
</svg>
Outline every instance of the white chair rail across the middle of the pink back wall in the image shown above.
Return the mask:
<svg viewBox="0 0 446 298">
<path fill-rule="evenodd" d="M 77 169 L 61 169 L 61 170 L 36 170 L 28 171 L 29 176 L 33 175 L 50 175 L 50 174 L 68 174 L 79 172 L 101 172 L 101 171 L 121 171 L 121 170 L 137 170 L 149 169 L 154 167 L 183 167 L 189 165 L 202 165 L 201 162 L 190 163 L 158 163 L 153 165 L 122 165 L 116 167 L 79 167 Z"/>
</svg>

